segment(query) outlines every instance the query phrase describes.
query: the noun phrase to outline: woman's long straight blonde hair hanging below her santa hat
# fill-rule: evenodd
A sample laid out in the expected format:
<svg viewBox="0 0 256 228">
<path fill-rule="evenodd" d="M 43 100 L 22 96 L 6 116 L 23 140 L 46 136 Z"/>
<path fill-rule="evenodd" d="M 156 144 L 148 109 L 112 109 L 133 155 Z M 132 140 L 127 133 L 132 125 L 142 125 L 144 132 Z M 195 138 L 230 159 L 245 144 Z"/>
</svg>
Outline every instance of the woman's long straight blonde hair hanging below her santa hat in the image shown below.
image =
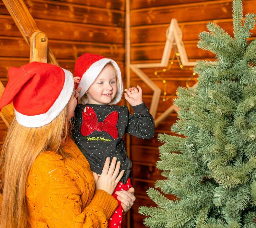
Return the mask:
<svg viewBox="0 0 256 228">
<path fill-rule="evenodd" d="M 62 142 L 68 135 L 67 106 L 49 124 L 28 128 L 12 121 L 0 157 L 1 192 L 3 194 L 0 227 L 28 226 L 26 184 L 35 159 L 44 151 L 65 156 Z"/>
</svg>

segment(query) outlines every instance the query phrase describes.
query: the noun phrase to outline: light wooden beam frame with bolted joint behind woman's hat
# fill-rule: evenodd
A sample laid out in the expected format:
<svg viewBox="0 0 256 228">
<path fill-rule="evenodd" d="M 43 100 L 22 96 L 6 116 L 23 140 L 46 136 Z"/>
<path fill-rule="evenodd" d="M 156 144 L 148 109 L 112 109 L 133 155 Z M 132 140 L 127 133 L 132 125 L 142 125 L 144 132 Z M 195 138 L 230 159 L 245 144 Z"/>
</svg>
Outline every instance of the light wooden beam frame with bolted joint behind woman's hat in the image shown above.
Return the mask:
<svg viewBox="0 0 256 228">
<path fill-rule="evenodd" d="M 48 47 L 48 38 L 46 34 L 38 29 L 34 18 L 31 16 L 23 0 L 3 0 L 3 3 L 27 44 L 30 46 L 29 62 L 37 61 L 59 65 L 53 52 Z M 4 92 L 4 89 L 5 87 L 0 81 L 0 97 Z M 9 127 L 14 117 L 12 103 L 2 108 L 0 116 L 7 127 Z"/>
</svg>

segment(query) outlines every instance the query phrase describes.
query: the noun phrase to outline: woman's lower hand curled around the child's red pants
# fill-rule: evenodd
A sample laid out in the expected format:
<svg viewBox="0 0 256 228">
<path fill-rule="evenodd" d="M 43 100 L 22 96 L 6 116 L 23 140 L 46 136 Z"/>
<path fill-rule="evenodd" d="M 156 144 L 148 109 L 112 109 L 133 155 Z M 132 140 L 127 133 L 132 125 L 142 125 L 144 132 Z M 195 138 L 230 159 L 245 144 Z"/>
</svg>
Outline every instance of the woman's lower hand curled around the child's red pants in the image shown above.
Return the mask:
<svg viewBox="0 0 256 228">
<path fill-rule="evenodd" d="M 129 209 L 131 209 L 136 199 L 134 196 L 134 188 L 129 188 L 128 191 L 118 191 L 115 193 L 117 194 L 117 199 L 121 201 L 123 211 L 127 212 Z"/>
</svg>

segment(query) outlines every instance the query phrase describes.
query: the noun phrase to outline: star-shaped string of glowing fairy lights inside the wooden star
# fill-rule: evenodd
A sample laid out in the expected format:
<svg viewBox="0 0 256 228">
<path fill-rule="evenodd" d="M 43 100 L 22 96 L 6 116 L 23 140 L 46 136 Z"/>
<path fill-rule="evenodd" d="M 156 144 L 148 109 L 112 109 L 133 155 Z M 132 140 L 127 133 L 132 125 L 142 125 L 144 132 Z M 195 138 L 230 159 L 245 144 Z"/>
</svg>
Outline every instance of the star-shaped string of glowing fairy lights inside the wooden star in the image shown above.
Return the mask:
<svg viewBox="0 0 256 228">
<path fill-rule="evenodd" d="M 164 72 L 167 72 L 167 71 L 170 71 L 173 67 L 173 64 L 174 64 L 174 60 L 175 58 L 177 59 L 178 61 L 178 64 L 179 64 L 179 67 L 181 70 L 191 70 L 193 71 L 193 68 L 192 67 L 184 67 L 182 64 L 181 64 L 181 60 L 180 60 L 180 53 L 178 52 L 178 49 L 177 49 L 177 46 L 174 45 L 174 53 L 173 53 L 173 56 L 172 56 L 172 59 L 169 61 L 169 64 L 166 68 L 164 69 L 161 69 L 161 70 L 155 70 L 154 74 L 162 81 L 162 83 L 164 84 L 164 92 L 163 92 L 163 101 L 168 101 L 171 97 L 177 95 L 177 93 L 173 93 L 173 94 L 170 94 L 168 95 L 167 94 L 167 87 L 168 87 L 168 83 L 167 81 L 162 78 L 159 73 L 164 73 Z M 189 81 L 191 81 L 192 79 L 195 78 L 195 75 L 196 73 L 192 73 L 192 75 L 188 78 L 188 80 L 186 81 L 186 87 L 188 88 L 189 87 Z"/>
</svg>

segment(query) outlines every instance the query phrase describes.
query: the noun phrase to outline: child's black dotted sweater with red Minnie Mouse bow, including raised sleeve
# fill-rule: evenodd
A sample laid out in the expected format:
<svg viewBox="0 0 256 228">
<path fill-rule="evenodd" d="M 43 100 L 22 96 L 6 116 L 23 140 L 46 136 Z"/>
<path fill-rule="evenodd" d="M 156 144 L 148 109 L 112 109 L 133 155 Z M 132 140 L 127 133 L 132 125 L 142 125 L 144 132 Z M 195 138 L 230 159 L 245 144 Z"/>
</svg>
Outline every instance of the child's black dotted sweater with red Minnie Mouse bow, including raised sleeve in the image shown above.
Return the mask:
<svg viewBox="0 0 256 228">
<path fill-rule="evenodd" d="M 128 159 L 124 133 L 138 138 L 154 137 L 154 119 L 144 103 L 132 106 L 131 115 L 127 106 L 110 105 L 77 105 L 73 136 L 79 149 L 90 163 L 92 171 L 101 174 L 107 157 L 117 157 L 121 170 L 125 173 L 121 179 L 126 183 L 131 161 Z"/>
</svg>

